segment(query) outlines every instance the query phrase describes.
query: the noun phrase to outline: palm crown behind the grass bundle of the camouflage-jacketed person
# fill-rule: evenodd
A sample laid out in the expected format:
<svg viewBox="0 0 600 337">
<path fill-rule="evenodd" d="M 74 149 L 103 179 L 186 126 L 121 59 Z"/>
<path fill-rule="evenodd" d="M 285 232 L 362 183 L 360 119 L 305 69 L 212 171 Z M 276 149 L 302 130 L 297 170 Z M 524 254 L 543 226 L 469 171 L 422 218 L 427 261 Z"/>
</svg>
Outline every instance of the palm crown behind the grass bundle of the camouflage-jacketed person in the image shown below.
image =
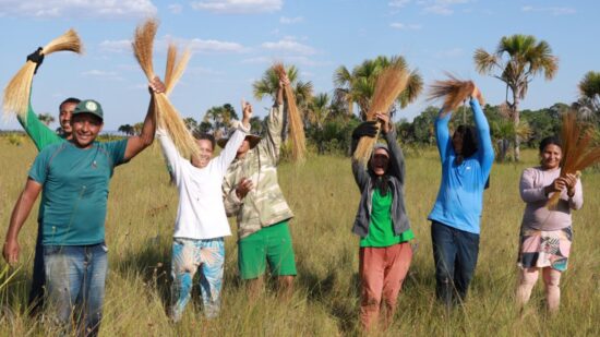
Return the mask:
<svg viewBox="0 0 600 337">
<path fill-rule="evenodd" d="M 302 111 L 305 110 L 307 106 L 311 101 L 312 97 L 312 82 L 303 82 L 299 79 L 299 70 L 296 65 L 287 67 L 287 75 L 290 82 L 290 86 L 293 88 L 293 96 L 296 97 L 296 105 Z M 254 93 L 254 98 L 262 100 L 265 96 L 269 96 L 275 100 L 277 95 L 277 89 L 279 88 L 279 76 L 273 69 L 269 67 L 263 73 L 261 80 L 252 83 L 252 91 Z"/>
</svg>

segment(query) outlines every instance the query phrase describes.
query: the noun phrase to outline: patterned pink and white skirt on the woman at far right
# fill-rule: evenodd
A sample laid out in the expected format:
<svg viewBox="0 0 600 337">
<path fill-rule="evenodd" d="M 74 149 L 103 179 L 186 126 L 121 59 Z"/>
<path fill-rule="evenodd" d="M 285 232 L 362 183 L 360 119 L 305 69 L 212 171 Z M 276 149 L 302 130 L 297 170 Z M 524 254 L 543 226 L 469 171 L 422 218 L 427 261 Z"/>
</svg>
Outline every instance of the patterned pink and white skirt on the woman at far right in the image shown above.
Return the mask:
<svg viewBox="0 0 600 337">
<path fill-rule="evenodd" d="M 573 230 L 571 226 L 548 231 L 521 228 L 518 266 L 521 268 L 551 267 L 564 272 L 568 264 L 572 242 Z"/>
</svg>

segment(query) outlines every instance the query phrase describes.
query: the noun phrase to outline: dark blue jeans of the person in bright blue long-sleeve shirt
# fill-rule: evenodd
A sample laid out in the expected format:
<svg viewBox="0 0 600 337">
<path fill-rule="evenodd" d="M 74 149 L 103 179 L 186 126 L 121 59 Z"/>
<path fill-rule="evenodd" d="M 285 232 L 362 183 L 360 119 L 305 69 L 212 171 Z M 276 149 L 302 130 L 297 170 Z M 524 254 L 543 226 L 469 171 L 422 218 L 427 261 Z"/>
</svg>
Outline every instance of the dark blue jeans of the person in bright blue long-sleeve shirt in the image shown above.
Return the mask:
<svg viewBox="0 0 600 337">
<path fill-rule="evenodd" d="M 432 221 L 435 294 L 446 306 L 465 301 L 479 253 L 479 234 Z"/>
</svg>

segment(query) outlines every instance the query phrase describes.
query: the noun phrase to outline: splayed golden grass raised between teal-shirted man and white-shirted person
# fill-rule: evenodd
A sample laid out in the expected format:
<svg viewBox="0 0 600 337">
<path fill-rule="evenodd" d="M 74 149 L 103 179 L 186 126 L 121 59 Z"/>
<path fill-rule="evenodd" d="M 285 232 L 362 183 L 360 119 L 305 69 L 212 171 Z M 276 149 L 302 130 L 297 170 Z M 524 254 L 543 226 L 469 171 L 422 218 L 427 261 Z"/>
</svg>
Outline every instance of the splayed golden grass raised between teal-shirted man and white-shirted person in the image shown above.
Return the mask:
<svg viewBox="0 0 600 337">
<path fill-rule="evenodd" d="M 132 43 L 135 59 L 137 59 L 148 81 L 155 77 L 152 52 L 157 28 L 158 23 L 156 20 L 147 20 L 135 29 L 135 37 Z M 173 45 L 170 45 L 167 53 L 167 71 L 165 75 L 166 93 L 153 94 L 158 125 L 169 134 L 181 156 L 188 158 L 192 155 L 197 155 L 199 148 L 192 134 L 185 128 L 183 119 L 169 101 L 167 94 L 172 91 L 175 84 L 181 77 L 189 59 L 190 52 L 185 50 L 183 56 L 177 60 L 177 49 Z"/>
</svg>

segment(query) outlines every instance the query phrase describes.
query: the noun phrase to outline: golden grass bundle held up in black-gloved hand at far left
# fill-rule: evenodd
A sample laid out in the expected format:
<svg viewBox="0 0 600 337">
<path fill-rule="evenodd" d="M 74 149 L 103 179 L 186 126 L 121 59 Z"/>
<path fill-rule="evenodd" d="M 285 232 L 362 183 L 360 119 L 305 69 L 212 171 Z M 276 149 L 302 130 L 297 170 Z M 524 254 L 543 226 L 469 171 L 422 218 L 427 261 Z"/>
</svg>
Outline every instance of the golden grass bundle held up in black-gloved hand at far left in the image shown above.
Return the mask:
<svg viewBox="0 0 600 337">
<path fill-rule="evenodd" d="M 77 33 L 73 29 L 69 29 L 67 33 L 55 38 L 41 48 L 40 53 L 44 56 L 57 51 L 73 51 L 81 53 L 82 50 L 83 48 Z M 2 105 L 4 115 L 17 113 L 23 119 L 26 119 L 29 94 L 32 92 L 32 81 L 34 79 L 36 65 L 35 62 L 27 60 L 25 65 L 16 72 L 11 82 L 4 87 L 4 101 Z"/>
</svg>

